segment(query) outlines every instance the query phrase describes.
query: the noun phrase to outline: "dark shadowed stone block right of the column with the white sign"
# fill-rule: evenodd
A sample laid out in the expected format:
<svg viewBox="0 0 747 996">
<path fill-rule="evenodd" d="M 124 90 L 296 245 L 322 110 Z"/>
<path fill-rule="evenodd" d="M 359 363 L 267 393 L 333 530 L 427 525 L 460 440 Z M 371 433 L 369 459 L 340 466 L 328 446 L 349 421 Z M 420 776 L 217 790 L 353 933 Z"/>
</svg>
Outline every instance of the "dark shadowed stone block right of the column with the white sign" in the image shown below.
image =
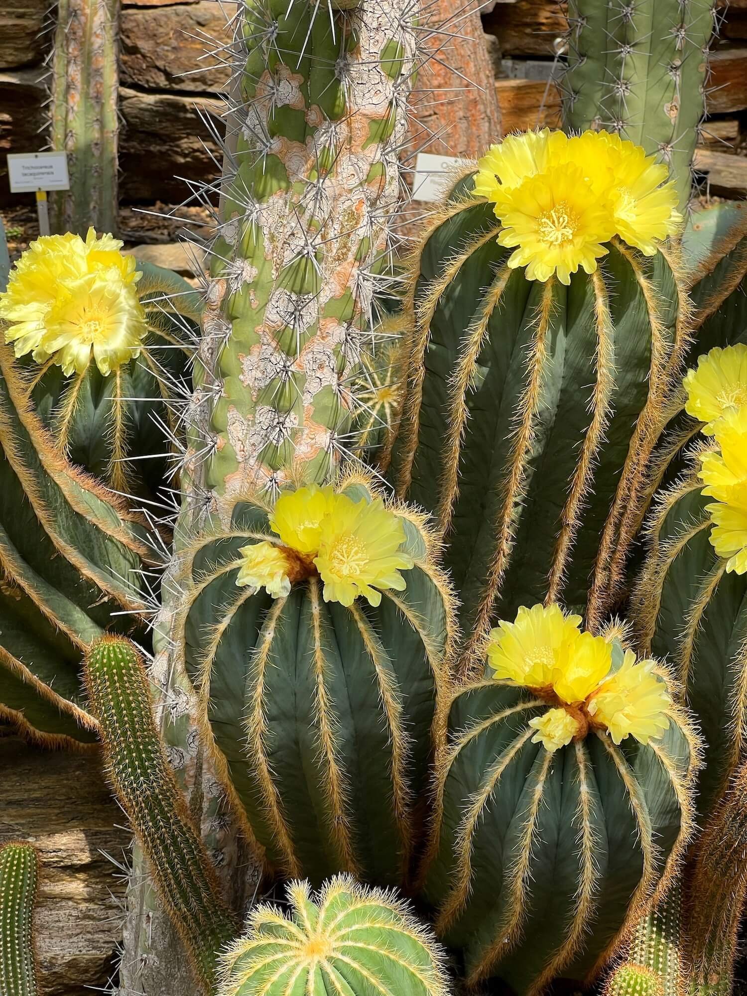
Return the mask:
<svg viewBox="0 0 747 996">
<path fill-rule="evenodd" d="M 215 182 L 220 170 L 205 145 L 218 162 L 220 147 L 197 116 L 195 105 L 214 116 L 222 129 L 220 100 L 121 91 L 120 196 L 124 202 L 178 204 L 189 196 L 179 176 Z"/>
</svg>

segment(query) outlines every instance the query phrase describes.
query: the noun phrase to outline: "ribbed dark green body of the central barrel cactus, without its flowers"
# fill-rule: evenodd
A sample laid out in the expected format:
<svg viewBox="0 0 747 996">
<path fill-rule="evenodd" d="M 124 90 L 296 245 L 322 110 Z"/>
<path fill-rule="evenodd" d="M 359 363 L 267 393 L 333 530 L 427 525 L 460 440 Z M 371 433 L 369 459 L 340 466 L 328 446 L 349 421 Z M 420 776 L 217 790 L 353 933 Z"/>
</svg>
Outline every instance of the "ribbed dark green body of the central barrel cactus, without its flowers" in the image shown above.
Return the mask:
<svg viewBox="0 0 747 996">
<path fill-rule="evenodd" d="M 371 500 L 363 482 L 343 493 Z M 452 621 L 422 523 L 401 515 L 415 566 L 377 609 L 328 605 L 316 576 L 277 600 L 236 587 L 240 548 L 269 532 L 248 501 L 186 552 L 179 579 L 215 767 L 268 864 L 314 883 L 401 881 L 418 837 Z"/>
</svg>

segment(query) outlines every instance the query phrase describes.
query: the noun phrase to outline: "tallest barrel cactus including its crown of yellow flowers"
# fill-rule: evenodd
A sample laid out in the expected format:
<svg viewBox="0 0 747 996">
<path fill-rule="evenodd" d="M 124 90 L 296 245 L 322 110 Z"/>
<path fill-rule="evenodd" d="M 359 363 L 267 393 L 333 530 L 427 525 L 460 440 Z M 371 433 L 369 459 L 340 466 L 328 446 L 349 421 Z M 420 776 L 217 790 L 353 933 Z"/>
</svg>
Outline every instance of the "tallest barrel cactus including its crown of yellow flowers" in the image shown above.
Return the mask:
<svg viewBox="0 0 747 996">
<path fill-rule="evenodd" d="M 640 149 L 545 129 L 479 167 L 413 258 L 389 471 L 437 515 L 472 657 L 520 605 L 586 606 L 595 628 L 619 599 L 688 315 L 659 244 L 677 228 L 674 193 Z M 610 189 L 613 170 L 638 200 Z"/>
</svg>

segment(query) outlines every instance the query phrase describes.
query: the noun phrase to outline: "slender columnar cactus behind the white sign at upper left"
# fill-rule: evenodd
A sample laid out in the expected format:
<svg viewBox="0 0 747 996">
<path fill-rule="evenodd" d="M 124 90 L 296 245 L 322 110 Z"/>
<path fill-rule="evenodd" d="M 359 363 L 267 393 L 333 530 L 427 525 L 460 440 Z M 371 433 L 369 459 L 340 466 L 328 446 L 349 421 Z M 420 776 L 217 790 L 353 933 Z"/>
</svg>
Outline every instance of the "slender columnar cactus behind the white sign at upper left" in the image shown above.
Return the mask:
<svg viewBox="0 0 747 996">
<path fill-rule="evenodd" d="M 51 147 L 68 153 L 70 189 L 51 198 L 52 232 L 117 228 L 120 0 L 58 0 Z"/>
</svg>

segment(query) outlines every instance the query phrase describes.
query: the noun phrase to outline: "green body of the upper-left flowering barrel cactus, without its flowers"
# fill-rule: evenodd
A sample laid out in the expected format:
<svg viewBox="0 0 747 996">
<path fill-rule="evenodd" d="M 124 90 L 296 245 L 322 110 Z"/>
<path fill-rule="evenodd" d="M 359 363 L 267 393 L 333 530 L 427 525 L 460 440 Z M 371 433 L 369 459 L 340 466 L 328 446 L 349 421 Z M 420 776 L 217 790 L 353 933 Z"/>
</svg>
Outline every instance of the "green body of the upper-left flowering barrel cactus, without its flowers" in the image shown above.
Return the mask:
<svg viewBox="0 0 747 996">
<path fill-rule="evenodd" d="M 52 360 L 41 368 L 31 357 L 21 363 L 27 392 L 61 453 L 116 491 L 154 495 L 164 482 L 177 483 L 169 434 L 181 435 L 176 414 L 191 392 L 190 339 L 202 303 L 177 274 L 142 262 L 137 270 L 148 332 L 136 359 L 108 376 L 93 359 L 71 376 Z"/>
</svg>

